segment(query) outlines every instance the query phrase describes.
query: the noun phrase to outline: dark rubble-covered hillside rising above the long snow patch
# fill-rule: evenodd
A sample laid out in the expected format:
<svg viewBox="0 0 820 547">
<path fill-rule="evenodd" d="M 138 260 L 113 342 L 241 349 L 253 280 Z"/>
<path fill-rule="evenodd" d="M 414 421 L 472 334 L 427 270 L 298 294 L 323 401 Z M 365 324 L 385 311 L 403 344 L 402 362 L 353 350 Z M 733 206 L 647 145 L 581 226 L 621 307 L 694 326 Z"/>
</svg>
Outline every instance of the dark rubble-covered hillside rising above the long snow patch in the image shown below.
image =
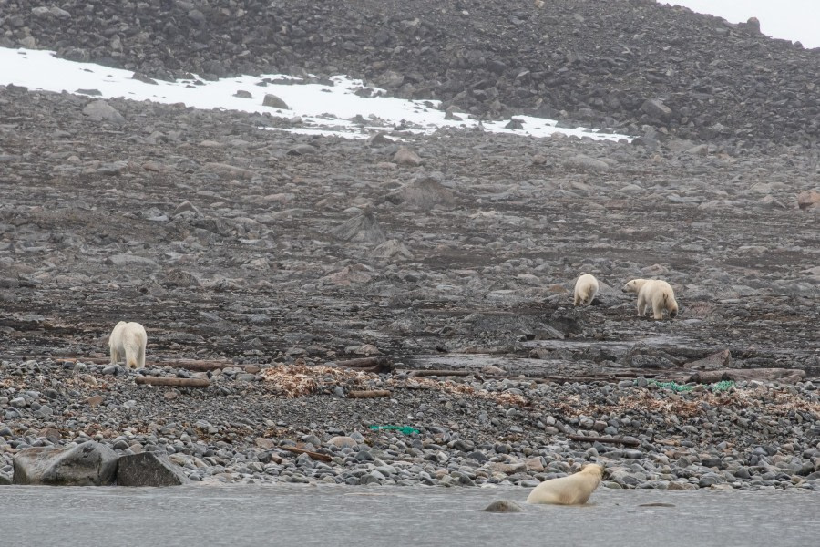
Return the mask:
<svg viewBox="0 0 820 547">
<path fill-rule="evenodd" d="M 820 136 L 820 50 L 653 0 L 0 0 L 0 46 L 151 77 L 344 72 L 480 116 L 650 139 Z"/>
</svg>

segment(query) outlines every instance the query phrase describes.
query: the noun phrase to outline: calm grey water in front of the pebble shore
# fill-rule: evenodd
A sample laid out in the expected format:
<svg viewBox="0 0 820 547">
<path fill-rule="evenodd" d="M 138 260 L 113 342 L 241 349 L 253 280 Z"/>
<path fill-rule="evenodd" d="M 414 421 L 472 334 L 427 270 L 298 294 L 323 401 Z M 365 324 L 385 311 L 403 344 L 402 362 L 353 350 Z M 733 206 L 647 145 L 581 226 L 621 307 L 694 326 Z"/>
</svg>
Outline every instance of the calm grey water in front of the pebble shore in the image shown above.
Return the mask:
<svg viewBox="0 0 820 547">
<path fill-rule="evenodd" d="M 820 493 L 598 490 L 583 507 L 527 506 L 528 489 L 0 487 L 0 545 L 813 546 Z M 671 507 L 641 507 L 646 503 Z"/>
</svg>

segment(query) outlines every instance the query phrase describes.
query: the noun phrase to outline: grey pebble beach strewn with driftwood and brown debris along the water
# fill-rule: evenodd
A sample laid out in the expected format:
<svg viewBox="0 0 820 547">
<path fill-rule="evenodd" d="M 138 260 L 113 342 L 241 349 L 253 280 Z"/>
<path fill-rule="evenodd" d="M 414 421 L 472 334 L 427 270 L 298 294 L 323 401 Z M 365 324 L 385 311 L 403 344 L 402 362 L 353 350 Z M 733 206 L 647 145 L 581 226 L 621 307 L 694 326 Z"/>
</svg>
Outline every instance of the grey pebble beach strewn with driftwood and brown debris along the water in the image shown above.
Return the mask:
<svg viewBox="0 0 820 547">
<path fill-rule="evenodd" d="M 820 397 L 809 381 L 676 391 L 643 377 L 557 385 L 325 366 L 249 370 L 217 371 L 197 389 L 134 378 L 209 375 L 3 361 L 0 482 L 21 449 L 97 440 L 118 454 L 166 452 L 200 482 L 531 488 L 595 461 L 607 488 L 820 490 Z M 391 396 L 345 397 L 352 388 Z"/>
</svg>

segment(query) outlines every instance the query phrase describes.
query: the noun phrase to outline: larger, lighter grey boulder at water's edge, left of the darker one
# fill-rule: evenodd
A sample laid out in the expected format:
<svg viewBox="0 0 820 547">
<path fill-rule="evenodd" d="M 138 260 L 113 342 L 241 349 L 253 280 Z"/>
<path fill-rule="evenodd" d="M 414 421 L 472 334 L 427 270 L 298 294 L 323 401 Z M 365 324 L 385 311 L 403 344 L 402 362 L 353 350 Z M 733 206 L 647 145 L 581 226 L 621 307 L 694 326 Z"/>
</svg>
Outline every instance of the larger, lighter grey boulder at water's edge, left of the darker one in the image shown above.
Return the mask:
<svg viewBox="0 0 820 547">
<path fill-rule="evenodd" d="M 99 486 L 114 481 L 117 453 L 98 442 L 74 447 L 35 447 L 15 455 L 15 484 Z"/>
</svg>

